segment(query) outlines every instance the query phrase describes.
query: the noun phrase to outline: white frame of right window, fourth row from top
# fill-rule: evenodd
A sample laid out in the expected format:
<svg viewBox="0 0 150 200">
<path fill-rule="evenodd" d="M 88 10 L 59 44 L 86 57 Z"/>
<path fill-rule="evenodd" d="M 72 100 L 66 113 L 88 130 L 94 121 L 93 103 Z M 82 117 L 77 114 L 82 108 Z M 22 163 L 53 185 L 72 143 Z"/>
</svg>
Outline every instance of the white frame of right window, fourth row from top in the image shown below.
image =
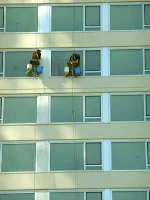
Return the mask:
<svg viewBox="0 0 150 200">
<path fill-rule="evenodd" d="M 126 143 L 126 142 L 130 142 L 130 143 L 139 143 L 139 142 L 143 142 L 145 143 L 145 165 L 146 165 L 146 168 L 141 170 L 141 169 L 133 169 L 133 170 L 116 170 L 116 169 L 112 169 L 112 143 Z M 148 149 L 147 149 L 147 144 L 150 143 L 150 140 L 110 140 L 110 151 L 111 151 L 111 154 L 110 154 L 110 171 L 150 171 L 150 169 L 148 169 L 148 167 L 150 166 L 148 164 Z"/>
</svg>

